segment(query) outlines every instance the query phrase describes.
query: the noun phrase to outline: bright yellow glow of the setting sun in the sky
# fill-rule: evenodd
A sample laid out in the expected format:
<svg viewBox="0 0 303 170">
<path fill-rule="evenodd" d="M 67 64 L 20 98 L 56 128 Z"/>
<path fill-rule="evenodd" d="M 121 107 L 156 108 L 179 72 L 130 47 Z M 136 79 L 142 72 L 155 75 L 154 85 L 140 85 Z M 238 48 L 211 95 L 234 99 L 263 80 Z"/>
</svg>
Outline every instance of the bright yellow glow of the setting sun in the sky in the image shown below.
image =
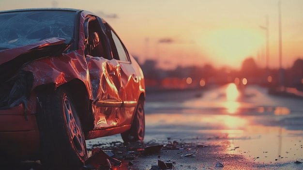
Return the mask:
<svg viewBox="0 0 303 170">
<path fill-rule="evenodd" d="M 201 45 L 212 58 L 220 58 L 214 62 L 239 67 L 243 60 L 256 56 L 264 45 L 264 35 L 258 31 L 229 28 L 215 30 L 202 38 Z M 206 47 L 206 49 L 205 49 Z M 235 65 L 238 64 L 238 65 Z"/>
</svg>

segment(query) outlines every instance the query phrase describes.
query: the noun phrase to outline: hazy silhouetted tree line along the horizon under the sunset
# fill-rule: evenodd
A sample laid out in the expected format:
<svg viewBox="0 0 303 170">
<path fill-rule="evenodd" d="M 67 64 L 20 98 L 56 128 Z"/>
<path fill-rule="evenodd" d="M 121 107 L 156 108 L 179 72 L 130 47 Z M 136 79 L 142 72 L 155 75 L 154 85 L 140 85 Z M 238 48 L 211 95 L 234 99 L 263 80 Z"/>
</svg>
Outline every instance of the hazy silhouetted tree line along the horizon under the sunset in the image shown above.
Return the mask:
<svg viewBox="0 0 303 170">
<path fill-rule="evenodd" d="M 247 58 L 242 62 L 240 70 L 222 67 L 214 68 L 211 64 L 203 66 L 177 66 L 176 69 L 166 70 L 157 67 L 157 61 L 146 60 L 141 63 L 147 87 L 163 87 L 163 82 L 182 83 L 186 78 L 190 77 L 192 81 L 187 87 L 202 87 L 199 82 L 205 81 L 205 87 L 210 85 L 222 85 L 247 79 L 247 84 L 258 84 L 268 87 L 277 87 L 279 85 L 286 87 L 295 87 L 303 90 L 303 60 L 297 59 L 292 67 L 283 69 L 260 68 L 253 58 Z M 282 74 L 281 74 L 282 73 Z M 282 78 L 281 78 L 282 75 Z M 170 81 L 165 81 L 169 79 Z M 178 81 L 179 80 L 179 81 Z M 281 81 L 280 81 L 281 80 Z M 280 84 L 279 84 L 280 83 Z M 203 86 L 204 87 L 204 86 Z M 186 87 L 185 87 L 186 88 Z"/>
</svg>

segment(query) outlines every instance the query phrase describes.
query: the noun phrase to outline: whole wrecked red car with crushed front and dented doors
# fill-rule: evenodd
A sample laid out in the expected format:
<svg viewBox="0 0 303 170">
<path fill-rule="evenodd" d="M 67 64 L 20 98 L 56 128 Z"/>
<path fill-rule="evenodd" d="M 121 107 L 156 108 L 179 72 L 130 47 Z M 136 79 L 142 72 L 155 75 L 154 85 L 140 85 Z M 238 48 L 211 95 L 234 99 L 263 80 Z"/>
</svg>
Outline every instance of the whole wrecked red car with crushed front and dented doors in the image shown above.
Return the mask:
<svg viewBox="0 0 303 170">
<path fill-rule="evenodd" d="M 80 166 L 86 139 L 143 140 L 142 70 L 102 18 L 76 9 L 0 12 L 0 154 Z"/>
</svg>

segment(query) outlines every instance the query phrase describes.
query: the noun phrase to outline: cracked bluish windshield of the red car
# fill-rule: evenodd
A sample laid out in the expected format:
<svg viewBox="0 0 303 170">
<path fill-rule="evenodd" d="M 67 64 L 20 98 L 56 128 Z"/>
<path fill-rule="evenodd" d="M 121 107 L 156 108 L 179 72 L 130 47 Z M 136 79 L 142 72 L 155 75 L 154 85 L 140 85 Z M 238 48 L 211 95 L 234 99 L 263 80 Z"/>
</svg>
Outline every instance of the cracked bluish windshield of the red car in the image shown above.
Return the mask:
<svg viewBox="0 0 303 170">
<path fill-rule="evenodd" d="M 73 11 L 15 11 L 0 13 L 0 50 L 26 46 L 51 37 L 73 39 Z"/>
</svg>

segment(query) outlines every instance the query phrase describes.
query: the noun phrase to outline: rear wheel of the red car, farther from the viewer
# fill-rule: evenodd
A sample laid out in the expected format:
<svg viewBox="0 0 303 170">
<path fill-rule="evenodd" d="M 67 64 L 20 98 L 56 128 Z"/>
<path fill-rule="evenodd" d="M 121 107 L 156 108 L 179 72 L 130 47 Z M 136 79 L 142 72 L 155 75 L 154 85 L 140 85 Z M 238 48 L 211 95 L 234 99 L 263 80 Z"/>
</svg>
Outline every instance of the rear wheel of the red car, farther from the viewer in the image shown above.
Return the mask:
<svg viewBox="0 0 303 170">
<path fill-rule="evenodd" d="M 143 141 L 145 135 L 144 101 L 139 100 L 131 128 L 121 133 L 124 142 Z"/>
</svg>

